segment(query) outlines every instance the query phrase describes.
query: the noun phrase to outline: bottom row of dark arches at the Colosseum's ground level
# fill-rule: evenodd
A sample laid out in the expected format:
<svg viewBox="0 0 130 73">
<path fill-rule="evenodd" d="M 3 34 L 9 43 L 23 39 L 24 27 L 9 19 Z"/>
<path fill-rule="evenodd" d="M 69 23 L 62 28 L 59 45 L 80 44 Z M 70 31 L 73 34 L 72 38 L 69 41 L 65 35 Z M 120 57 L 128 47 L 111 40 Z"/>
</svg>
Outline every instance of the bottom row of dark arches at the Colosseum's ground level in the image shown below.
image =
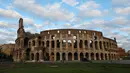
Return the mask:
<svg viewBox="0 0 130 73">
<path fill-rule="evenodd" d="M 66 57 L 67 56 L 67 57 Z M 90 57 L 90 58 L 89 58 Z M 54 54 L 53 52 L 50 54 L 46 53 L 44 56 L 42 56 L 42 58 L 40 57 L 39 53 L 31 53 L 31 60 L 36 60 L 39 61 L 40 59 L 43 60 L 67 60 L 67 61 L 72 61 L 72 60 L 80 60 L 82 58 L 87 58 L 87 59 L 91 59 L 91 60 L 116 60 L 117 59 L 117 55 L 116 54 L 103 54 L 103 53 L 71 53 L 69 52 L 68 54 L 66 53 L 59 53 L 57 52 L 56 54 Z"/>
</svg>

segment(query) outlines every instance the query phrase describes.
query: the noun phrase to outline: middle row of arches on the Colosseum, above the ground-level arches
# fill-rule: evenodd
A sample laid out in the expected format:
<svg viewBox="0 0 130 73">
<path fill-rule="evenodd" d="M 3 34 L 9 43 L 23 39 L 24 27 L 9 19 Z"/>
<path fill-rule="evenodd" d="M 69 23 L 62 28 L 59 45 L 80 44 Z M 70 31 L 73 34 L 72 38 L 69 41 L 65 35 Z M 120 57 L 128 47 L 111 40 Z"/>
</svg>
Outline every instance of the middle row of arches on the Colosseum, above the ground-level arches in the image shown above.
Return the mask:
<svg viewBox="0 0 130 73">
<path fill-rule="evenodd" d="M 116 45 L 114 45 L 113 43 L 108 43 L 108 42 L 103 42 L 103 41 L 88 41 L 88 40 L 52 40 L 52 41 L 40 41 L 39 40 L 39 46 L 46 46 L 46 47 L 51 47 L 51 48 L 60 48 L 60 43 L 62 44 L 62 47 L 66 47 L 66 43 L 68 42 L 68 47 L 72 46 L 72 43 L 74 44 L 73 47 L 74 48 L 88 48 L 90 46 L 90 48 L 95 48 L 95 49 L 107 49 L 107 48 L 117 48 Z M 30 42 L 29 42 L 30 43 Z M 35 46 L 36 42 L 33 40 L 32 41 L 32 46 Z M 51 43 L 51 45 L 50 45 Z M 56 43 L 56 45 L 55 45 Z M 30 46 L 30 45 L 29 45 Z M 95 47 L 94 47 L 95 46 Z"/>
</svg>

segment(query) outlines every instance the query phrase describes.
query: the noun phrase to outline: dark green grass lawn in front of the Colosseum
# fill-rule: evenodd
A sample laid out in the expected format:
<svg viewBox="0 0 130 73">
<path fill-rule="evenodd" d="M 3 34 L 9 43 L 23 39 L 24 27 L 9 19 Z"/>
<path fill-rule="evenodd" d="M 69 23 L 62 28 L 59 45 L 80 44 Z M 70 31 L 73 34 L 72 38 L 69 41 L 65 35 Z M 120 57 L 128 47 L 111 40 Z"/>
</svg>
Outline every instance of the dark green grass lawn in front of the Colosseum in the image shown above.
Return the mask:
<svg viewBox="0 0 130 73">
<path fill-rule="evenodd" d="M 58 66 L 58 67 L 52 67 Z M 130 64 L 26 63 L 0 67 L 0 73 L 130 73 Z"/>
</svg>

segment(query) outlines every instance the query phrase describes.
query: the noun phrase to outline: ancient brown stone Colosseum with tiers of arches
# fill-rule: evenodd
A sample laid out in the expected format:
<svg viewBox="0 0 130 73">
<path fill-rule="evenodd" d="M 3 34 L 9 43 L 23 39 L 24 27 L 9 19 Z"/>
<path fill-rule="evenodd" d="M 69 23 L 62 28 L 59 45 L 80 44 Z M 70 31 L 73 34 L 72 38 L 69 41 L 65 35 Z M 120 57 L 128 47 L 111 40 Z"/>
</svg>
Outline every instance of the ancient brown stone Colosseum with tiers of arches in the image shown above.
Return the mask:
<svg viewBox="0 0 130 73">
<path fill-rule="evenodd" d="M 85 29 L 53 29 L 31 34 L 24 31 L 23 19 L 19 20 L 13 59 L 15 62 L 117 60 L 116 39 L 103 36 L 102 32 Z"/>
</svg>

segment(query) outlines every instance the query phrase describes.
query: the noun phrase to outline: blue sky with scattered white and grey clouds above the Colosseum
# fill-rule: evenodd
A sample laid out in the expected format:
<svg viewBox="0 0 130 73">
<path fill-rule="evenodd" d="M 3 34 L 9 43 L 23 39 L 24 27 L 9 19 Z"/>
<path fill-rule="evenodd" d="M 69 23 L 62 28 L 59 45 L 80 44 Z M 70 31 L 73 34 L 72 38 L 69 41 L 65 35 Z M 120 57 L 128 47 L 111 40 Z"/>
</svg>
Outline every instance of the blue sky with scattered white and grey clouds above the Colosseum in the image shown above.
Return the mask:
<svg viewBox="0 0 130 73">
<path fill-rule="evenodd" d="M 130 49 L 130 0 L 0 0 L 0 44 L 14 43 L 18 20 L 25 31 L 56 28 L 102 31 Z"/>
</svg>

